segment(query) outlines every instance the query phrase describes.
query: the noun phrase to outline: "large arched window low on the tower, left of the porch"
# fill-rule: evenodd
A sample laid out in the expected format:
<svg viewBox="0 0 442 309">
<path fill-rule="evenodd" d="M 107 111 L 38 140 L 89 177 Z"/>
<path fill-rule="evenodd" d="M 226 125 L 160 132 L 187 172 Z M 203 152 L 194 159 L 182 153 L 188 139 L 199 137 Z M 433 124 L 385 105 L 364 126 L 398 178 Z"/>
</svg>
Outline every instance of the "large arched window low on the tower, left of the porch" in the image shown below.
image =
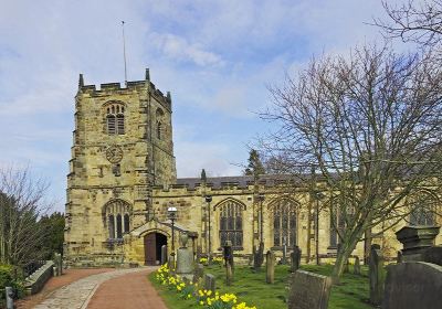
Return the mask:
<svg viewBox="0 0 442 309">
<path fill-rule="evenodd" d="M 103 207 L 104 222 L 107 223 L 108 238 L 122 239 L 130 232 L 130 205 L 122 200 L 108 202 Z"/>
</svg>

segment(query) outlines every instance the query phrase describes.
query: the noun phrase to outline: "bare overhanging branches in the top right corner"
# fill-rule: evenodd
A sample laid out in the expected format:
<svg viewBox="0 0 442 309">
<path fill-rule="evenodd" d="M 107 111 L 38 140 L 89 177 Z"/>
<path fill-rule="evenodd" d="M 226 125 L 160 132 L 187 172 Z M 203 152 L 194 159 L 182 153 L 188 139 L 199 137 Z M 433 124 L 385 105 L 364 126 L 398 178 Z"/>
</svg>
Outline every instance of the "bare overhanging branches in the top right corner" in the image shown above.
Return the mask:
<svg viewBox="0 0 442 309">
<path fill-rule="evenodd" d="M 415 42 L 423 46 L 440 45 L 442 41 L 442 1 L 408 0 L 401 6 L 382 1 L 390 20 L 375 19 L 386 36 L 400 38 L 403 42 Z"/>
</svg>

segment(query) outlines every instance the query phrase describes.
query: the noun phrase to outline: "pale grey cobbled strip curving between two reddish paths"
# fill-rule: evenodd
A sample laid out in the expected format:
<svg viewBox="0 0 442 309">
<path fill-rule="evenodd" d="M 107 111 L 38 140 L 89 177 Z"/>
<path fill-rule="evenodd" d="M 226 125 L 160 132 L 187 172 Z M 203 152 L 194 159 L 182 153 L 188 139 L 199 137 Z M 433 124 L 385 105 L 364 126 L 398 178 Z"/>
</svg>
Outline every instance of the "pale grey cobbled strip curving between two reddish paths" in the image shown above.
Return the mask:
<svg viewBox="0 0 442 309">
<path fill-rule="evenodd" d="M 98 289 L 99 285 L 114 278 L 122 276 L 129 276 L 131 274 L 146 274 L 152 269 L 148 268 L 131 268 L 118 269 L 103 274 L 92 275 L 80 280 L 76 280 L 67 286 L 55 290 L 43 302 L 35 306 L 36 309 L 85 309 L 94 292 Z M 147 278 L 146 278 L 147 281 Z M 148 283 L 148 281 L 147 281 Z M 149 284 L 149 283 L 148 283 Z M 150 288 L 151 285 L 149 284 Z M 155 290 L 155 289 L 154 289 Z M 158 297 L 158 296 L 157 296 Z M 126 299 L 129 301 L 130 299 Z M 102 308 L 110 308 L 107 305 Z M 122 307 L 119 307 L 122 308 Z M 133 307 L 131 307 L 133 308 Z M 160 307 L 159 307 L 160 308 Z"/>
</svg>

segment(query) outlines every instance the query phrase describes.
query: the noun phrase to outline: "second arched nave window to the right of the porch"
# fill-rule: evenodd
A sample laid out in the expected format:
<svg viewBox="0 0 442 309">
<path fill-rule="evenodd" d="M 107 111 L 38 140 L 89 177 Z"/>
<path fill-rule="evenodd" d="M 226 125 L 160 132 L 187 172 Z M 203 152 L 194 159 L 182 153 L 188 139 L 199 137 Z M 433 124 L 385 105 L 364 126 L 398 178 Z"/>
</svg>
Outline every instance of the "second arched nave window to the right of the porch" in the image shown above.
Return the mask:
<svg viewBox="0 0 442 309">
<path fill-rule="evenodd" d="M 297 203 L 283 199 L 273 202 L 270 207 L 273 211 L 273 245 L 280 247 L 285 244 L 293 247 L 296 245 Z"/>
</svg>

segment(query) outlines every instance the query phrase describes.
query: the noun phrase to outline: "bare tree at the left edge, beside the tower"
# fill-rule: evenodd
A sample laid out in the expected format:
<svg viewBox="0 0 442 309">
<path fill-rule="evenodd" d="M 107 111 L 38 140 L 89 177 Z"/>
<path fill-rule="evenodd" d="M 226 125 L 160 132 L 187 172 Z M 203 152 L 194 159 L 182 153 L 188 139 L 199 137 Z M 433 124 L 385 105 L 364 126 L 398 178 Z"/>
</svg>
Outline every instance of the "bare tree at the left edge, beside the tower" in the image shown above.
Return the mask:
<svg viewBox="0 0 442 309">
<path fill-rule="evenodd" d="M 39 219 L 49 210 L 48 184 L 28 169 L 0 169 L 0 263 L 21 266 L 44 254 L 46 237 Z"/>
</svg>

